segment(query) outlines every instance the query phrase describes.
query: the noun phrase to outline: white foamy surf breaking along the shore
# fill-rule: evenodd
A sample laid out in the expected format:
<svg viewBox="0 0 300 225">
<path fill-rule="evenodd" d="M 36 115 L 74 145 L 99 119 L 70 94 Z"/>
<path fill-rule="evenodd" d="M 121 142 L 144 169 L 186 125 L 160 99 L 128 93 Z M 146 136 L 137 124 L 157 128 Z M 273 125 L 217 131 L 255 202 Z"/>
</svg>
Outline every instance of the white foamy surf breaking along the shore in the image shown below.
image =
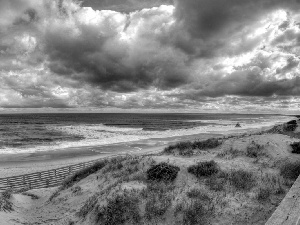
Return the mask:
<svg viewBox="0 0 300 225">
<path fill-rule="evenodd" d="M 4 147 L 1 153 L 33 153 L 37 151 L 53 151 L 72 147 L 93 147 L 111 145 L 122 142 L 133 142 L 146 139 L 163 139 L 184 135 L 197 134 L 229 134 L 239 131 L 246 131 L 256 128 L 273 126 L 291 120 L 289 116 L 270 116 L 269 118 L 242 118 L 243 121 L 235 120 L 201 120 L 206 126 L 196 126 L 185 129 L 172 130 L 143 130 L 142 128 L 126 128 L 116 126 L 106 126 L 103 124 L 78 124 L 78 125 L 46 125 L 49 131 L 62 132 L 70 136 L 81 136 L 76 141 L 56 141 L 51 145 L 27 146 L 24 147 Z M 236 128 L 235 124 L 240 122 L 242 128 Z M 138 149 L 137 149 L 138 150 Z M 137 151 L 136 150 L 136 151 Z"/>
</svg>

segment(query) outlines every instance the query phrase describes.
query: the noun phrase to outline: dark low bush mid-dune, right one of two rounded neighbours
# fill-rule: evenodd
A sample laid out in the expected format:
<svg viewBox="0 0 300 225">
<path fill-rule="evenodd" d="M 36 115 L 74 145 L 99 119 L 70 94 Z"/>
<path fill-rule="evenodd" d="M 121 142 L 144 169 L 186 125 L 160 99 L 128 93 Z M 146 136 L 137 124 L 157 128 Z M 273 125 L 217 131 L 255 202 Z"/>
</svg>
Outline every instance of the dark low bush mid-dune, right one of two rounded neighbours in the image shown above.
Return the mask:
<svg viewBox="0 0 300 225">
<path fill-rule="evenodd" d="M 188 167 L 188 172 L 200 178 L 202 176 L 211 176 L 219 172 L 218 164 L 211 160 L 208 162 L 199 162 L 197 165 Z"/>
</svg>

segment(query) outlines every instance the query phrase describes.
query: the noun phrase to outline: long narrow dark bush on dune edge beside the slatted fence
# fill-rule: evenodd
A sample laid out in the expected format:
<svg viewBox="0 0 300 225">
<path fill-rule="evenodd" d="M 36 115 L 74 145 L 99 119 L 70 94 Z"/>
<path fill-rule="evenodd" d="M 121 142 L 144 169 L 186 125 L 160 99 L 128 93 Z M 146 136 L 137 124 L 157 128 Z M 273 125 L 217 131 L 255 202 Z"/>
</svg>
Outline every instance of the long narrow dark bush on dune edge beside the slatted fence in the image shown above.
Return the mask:
<svg viewBox="0 0 300 225">
<path fill-rule="evenodd" d="M 61 190 L 67 189 L 71 186 L 73 186 L 75 183 L 78 181 L 86 178 L 90 174 L 93 174 L 97 172 L 98 170 L 102 169 L 105 165 L 107 164 L 107 161 L 101 161 L 101 162 L 96 162 L 94 165 L 87 167 L 85 169 L 79 170 L 72 176 L 68 177 L 67 179 L 64 180 L 61 186 Z"/>
</svg>

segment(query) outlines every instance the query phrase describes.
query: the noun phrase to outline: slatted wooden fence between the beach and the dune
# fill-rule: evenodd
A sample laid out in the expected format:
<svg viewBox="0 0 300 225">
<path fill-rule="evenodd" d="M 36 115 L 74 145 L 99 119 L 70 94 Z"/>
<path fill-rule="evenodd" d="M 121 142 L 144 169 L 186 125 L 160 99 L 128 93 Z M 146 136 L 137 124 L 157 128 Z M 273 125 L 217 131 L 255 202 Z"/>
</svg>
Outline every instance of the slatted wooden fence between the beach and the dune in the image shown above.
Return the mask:
<svg viewBox="0 0 300 225">
<path fill-rule="evenodd" d="M 74 164 L 70 166 L 60 167 L 57 169 L 41 171 L 36 173 L 29 173 L 13 177 L 0 178 L 0 192 L 7 189 L 38 189 L 55 187 L 62 183 L 62 181 L 78 170 L 84 169 L 103 159 L 93 160 L 89 162 Z"/>
</svg>

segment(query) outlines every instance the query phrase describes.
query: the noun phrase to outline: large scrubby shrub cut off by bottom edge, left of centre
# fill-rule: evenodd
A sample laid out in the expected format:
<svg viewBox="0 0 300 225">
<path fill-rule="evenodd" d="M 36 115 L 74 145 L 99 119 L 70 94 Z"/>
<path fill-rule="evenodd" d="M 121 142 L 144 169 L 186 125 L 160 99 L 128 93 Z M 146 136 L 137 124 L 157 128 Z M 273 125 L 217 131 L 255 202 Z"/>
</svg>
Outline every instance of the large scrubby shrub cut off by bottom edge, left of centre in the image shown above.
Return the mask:
<svg viewBox="0 0 300 225">
<path fill-rule="evenodd" d="M 141 216 L 138 198 L 129 195 L 117 195 L 109 199 L 106 206 L 97 208 L 97 223 L 103 225 L 140 224 Z"/>
</svg>

